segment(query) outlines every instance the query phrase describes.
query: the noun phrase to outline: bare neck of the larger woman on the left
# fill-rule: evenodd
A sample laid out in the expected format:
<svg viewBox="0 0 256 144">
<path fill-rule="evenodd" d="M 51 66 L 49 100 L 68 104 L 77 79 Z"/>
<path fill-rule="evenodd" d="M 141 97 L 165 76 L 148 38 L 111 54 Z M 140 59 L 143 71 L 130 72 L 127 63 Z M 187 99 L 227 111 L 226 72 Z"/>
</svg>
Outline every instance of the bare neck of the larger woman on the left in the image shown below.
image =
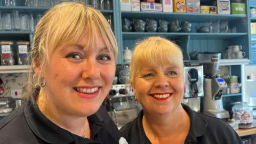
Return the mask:
<svg viewBox="0 0 256 144">
<path fill-rule="evenodd" d="M 47 97 L 42 90 L 38 95 L 37 105 L 42 113 L 54 124 L 81 137 L 88 137 L 86 131 L 90 131 L 90 128 L 87 117 L 74 116 L 68 113 L 65 108 L 54 103 L 54 100 L 50 97 Z"/>
</svg>

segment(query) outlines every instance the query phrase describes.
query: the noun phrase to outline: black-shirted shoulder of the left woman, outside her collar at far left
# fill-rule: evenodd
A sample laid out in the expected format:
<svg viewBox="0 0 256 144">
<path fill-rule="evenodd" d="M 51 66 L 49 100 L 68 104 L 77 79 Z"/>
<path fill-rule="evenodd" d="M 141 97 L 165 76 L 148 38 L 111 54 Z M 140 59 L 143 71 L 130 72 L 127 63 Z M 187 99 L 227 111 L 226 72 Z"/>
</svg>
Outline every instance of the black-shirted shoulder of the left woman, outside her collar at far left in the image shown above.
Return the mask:
<svg viewBox="0 0 256 144">
<path fill-rule="evenodd" d="M 34 134 L 29 129 L 23 109 L 24 106 L 20 106 L 0 121 L 0 143 L 31 141 Z"/>
</svg>

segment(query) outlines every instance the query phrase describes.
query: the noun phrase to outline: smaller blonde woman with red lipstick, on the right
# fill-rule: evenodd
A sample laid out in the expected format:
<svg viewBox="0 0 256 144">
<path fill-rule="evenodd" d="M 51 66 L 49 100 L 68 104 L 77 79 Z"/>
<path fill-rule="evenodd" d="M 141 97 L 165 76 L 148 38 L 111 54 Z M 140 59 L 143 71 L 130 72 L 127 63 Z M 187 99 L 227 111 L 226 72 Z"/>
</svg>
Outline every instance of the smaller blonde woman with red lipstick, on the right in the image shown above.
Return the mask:
<svg viewBox="0 0 256 144">
<path fill-rule="evenodd" d="M 120 130 L 127 142 L 242 143 L 225 121 L 181 105 L 185 82 L 179 46 L 159 36 L 146 38 L 135 45 L 130 70 L 143 109 Z"/>
</svg>

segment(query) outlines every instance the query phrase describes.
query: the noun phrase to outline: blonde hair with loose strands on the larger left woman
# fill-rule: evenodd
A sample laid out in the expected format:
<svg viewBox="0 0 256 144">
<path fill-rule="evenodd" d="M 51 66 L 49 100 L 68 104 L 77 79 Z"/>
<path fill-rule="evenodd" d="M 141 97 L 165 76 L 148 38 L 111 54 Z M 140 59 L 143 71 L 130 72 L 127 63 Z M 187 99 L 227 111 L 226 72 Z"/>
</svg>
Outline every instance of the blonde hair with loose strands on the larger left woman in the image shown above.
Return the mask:
<svg viewBox="0 0 256 144">
<path fill-rule="evenodd" d="M 68 2 L 55 5 L 45 13 L 38 22 L 31 48 L 31 61 L 37 61 L 43 69 L 50 63 L 50 55 L 59 46 L 78 44 L 83 37 L 88 37 L 85 50 L 93 43 L 97 43 L 97 35 L 102 37 L 109 50 L 113 50 L 115 59 L 118 48 L 111 27 L 101 12 L 81 2 Z M 38 89 L 34 84 L 35 71 L 31 66 L 28 83 L 25 85 L 24 97 L 35 101 L 33 91 Z M 37 76 L 38 77 L 38 76 Z"/>
</svg>

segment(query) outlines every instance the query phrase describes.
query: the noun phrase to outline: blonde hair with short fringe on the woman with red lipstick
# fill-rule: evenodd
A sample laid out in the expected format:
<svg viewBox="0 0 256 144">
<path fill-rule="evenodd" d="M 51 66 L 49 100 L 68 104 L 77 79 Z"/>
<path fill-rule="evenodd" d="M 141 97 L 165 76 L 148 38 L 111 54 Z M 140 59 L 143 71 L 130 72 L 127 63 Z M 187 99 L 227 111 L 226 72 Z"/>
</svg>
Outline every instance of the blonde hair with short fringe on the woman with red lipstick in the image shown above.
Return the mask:
<svg viewBox="0 0 256 144">
<path fill-rule="evenodd" d="M 183 71 L 183 55 L 178 45 L 160 36 L 148 37 L 138 42 L 130 63 L 130 82 L 135 81 L 143 66 L 163 66 L 166 62 Z"/>
</svg>

